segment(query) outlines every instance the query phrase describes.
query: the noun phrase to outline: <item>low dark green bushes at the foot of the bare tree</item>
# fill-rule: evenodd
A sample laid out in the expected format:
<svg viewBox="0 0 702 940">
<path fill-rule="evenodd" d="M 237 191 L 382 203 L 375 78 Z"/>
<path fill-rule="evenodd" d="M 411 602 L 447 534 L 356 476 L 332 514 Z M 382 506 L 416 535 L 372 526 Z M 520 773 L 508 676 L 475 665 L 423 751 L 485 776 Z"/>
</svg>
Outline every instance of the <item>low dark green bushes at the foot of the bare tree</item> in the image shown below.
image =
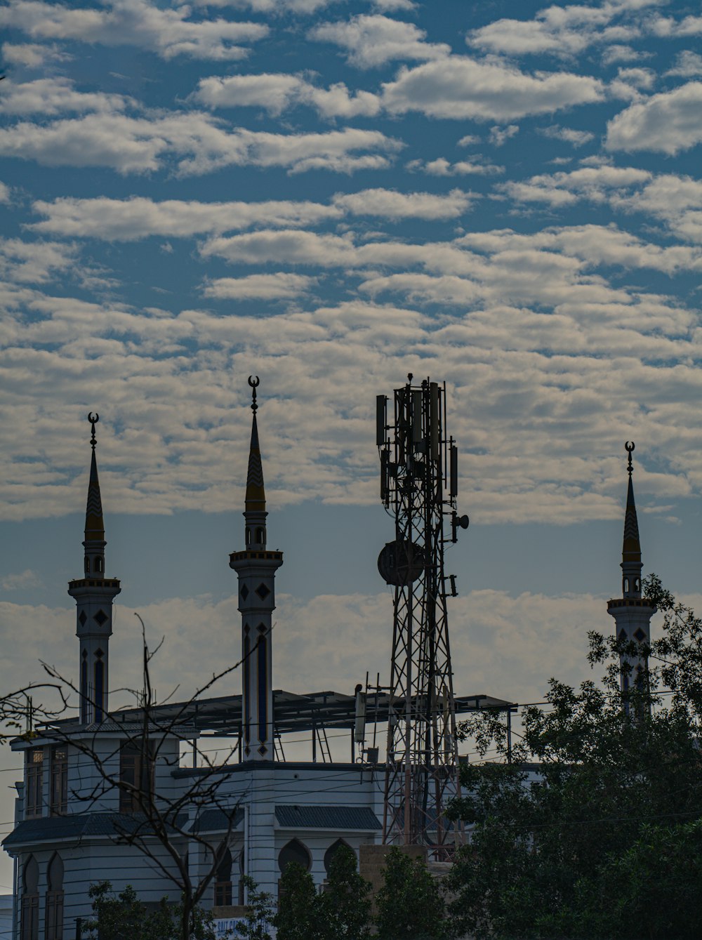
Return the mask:
<svg viewBox="0 0 702 940">
<path fill-rule="evenodd" d="M 93 919 L 84 924 L 84 936 L 95 940 L 179 940 L 182 928 L 182 904 L 165 898 L 156 911 L 139 901 L 132 885 L 115 894 L 110 882 L 90 885 Z M 190 918 L 192 940 L 214 940 L 210 914 L 196 907 Z"/>
</svg>

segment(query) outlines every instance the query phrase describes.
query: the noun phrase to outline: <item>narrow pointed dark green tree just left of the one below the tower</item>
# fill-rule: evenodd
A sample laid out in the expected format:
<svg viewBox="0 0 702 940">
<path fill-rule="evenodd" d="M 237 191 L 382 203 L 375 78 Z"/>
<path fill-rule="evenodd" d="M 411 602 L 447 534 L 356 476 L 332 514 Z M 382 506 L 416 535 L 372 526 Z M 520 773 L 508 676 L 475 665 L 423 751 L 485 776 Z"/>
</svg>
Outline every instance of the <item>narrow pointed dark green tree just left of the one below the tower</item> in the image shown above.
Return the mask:
<svg viewBox="0 0 702 940">
<path fill-rule="evenodd" d="M 332 855 L 329 879 L 319 896 L 323 940 L 367 940 L 369 893 L 370 882 L 359 874 L 356 854 L 350 846 L 340 845 Z"/>
</svg>

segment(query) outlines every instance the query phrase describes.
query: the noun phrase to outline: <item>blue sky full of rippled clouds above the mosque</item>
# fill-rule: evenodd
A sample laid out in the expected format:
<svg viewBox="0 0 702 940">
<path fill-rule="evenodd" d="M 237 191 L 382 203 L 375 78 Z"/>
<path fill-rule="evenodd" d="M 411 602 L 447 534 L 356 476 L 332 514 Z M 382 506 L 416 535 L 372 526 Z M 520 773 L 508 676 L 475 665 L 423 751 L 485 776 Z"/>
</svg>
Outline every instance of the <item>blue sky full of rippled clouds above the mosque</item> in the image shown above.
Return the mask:
<svg viewBox="0 0 702 940">
<path fill-rule="evenodd" d="M 134 612 L 164 695 L 237 658 L 249 375 L 277 687 L 389 672 L 374 406 L 410 371 L 446 383 L 471 518 L 457 692 L 589 677 L 626 440 L 645 571 L 694 601 L 701 37 L 678 0 L 1 4 L 3 688 L 77 665 L 88 410 L 112 681 Z"/>
</svg>

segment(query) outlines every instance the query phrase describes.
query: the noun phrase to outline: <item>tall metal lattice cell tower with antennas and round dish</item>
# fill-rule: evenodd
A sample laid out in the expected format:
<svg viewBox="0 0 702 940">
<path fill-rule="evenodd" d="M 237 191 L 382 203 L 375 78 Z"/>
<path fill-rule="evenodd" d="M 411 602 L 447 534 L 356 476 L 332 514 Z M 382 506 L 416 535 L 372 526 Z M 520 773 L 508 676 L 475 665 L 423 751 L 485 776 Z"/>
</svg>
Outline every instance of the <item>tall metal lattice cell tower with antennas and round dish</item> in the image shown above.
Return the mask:
<svg viewBox="0 0 702 940">
<path fill-rule="evenodd" d="M 395 540 L 378 557 L 395 588 L 382 839 L 424 844 L 445 858 L 457 837 L 444 809 L 458 788 L 458 752 L 446 616 L 456 579 L 445 574 L 444 551 L 468 517 L 456 509 L 458 449 L 445 431 L 445 384 L 413 384 L 410 373 L 391 409 L 379 395 L 381 499 L 395 518 Z"/>
</svg>

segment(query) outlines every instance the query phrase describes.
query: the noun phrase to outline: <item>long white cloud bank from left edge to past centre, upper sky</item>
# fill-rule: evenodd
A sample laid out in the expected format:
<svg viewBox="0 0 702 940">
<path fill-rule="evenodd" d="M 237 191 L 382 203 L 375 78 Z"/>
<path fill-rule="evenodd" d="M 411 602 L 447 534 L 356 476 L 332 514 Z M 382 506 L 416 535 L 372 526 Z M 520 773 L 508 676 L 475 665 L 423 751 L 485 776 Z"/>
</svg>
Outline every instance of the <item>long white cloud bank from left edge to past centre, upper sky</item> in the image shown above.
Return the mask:
<svg viewBox="0 0 702 940">
<path fill-rule="evenodd" d="M 145 173 L 175 156 L 180 175 L 228 165 L 283 166 L 291 173 L 329 169 L 352 173 L 389 165 L 386 154 L 402 144 L 379 131 L 346 128 L 329 133 L 227 132 L 208 115 L 174 113 L 157 118 L 88 114 L 39 125 L 20 122 L 0 129 L 0 153 L 60 166 L 109 166 Z"/>
</svg>

